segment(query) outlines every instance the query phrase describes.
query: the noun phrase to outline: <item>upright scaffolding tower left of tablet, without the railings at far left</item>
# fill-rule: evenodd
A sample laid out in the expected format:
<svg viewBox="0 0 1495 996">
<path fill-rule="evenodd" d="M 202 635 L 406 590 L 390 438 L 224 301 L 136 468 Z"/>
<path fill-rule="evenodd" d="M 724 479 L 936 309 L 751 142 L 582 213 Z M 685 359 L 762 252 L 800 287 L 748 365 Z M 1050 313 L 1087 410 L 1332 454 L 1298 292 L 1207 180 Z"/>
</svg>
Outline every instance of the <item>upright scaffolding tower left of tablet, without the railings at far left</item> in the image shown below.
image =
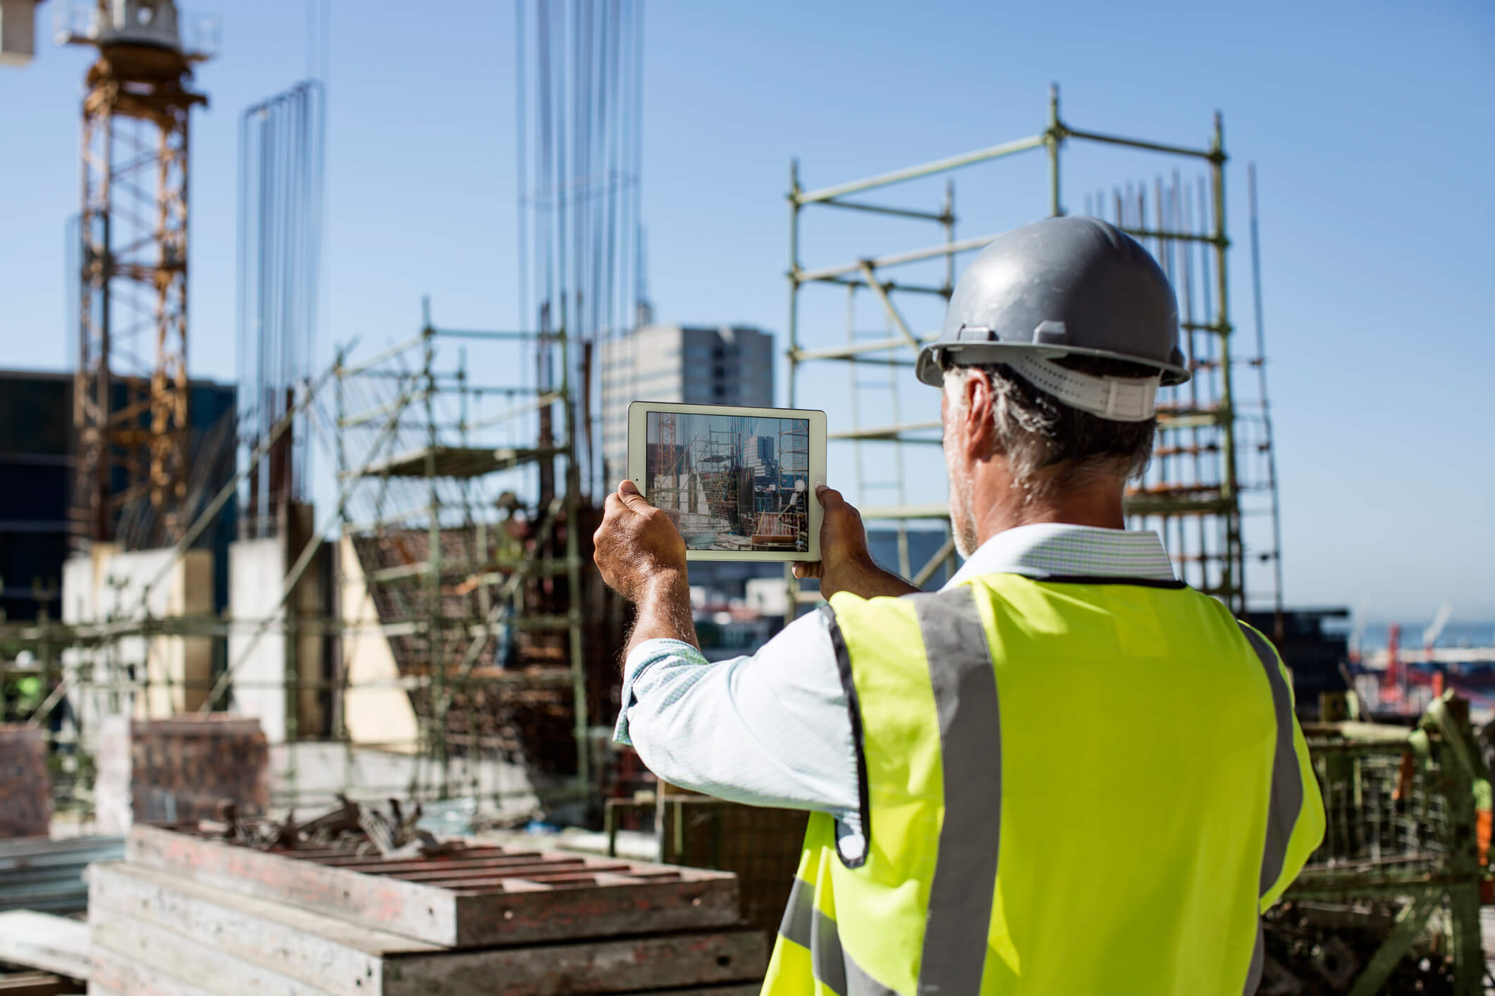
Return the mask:
<svg viewBox="0 0 1495 996">
<path fill-rule="evenodd" d="M 454 369 L 438 363 L 441 340 L 463 343 Z M 537 382 L 469 382 L 466 349 L 496 343 L 534 348 Z M 544 372 L 555 367 L 561 382 L 549 384 Z M 342 535 L 396 663 L 423 681 L 417 712 L 441 796 L 450 788 L 453 747 L 513 751 L 504 727 L 535 732 L 547 717 L 553 726 L 567 714 L 579 796 L 592 784 L 570 370 L 564 329 L 443 330 L 431 321 L 429 302 L 416 337 L 336 369 Z M 495 397 L 504 408 L 484 414 L 484 400 Z M 532 502 L 519 497 L 525 490 Z M 528 699 L 517 700 L 520 688 Z M 550 774 L 570 768 L 571 751 L 553 736 L 540 739 Z"/>
</svg>

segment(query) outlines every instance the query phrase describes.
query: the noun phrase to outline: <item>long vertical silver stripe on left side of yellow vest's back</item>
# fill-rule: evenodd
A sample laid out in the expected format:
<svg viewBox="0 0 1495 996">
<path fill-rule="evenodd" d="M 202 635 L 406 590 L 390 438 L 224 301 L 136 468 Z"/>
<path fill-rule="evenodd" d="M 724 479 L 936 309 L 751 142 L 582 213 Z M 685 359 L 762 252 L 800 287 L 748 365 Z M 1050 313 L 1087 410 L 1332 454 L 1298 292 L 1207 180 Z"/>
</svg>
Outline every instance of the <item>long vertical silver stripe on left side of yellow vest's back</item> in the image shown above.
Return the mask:
<svg viewBox="0 0 1495 996">
<path fill-rule="evenodd" d="M 939 715 L 945 820 L 930 883 L 919 993 L 981 992 L 1002 827 L 997 673 L 976 591 L 958 585 L 915 602 Z"/>
</svg>

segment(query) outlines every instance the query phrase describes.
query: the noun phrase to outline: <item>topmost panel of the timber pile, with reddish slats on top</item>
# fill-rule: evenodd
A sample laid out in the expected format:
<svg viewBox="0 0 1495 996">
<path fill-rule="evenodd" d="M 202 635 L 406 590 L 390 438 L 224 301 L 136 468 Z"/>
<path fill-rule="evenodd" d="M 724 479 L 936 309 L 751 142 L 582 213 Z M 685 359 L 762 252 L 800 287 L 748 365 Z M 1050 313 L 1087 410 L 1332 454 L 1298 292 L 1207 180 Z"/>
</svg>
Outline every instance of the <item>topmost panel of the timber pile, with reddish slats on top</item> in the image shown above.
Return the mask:
<svg viewBox="0 0 1495 996">
<path fill-rule="evenodd" d="M 457 845 L 450 854 L 410 860 L 263 853 L 138 824 L 126 857 L 447 948 L 739 923 L 737 878 L 730 874 L 504 847 Z"/>
</svg>

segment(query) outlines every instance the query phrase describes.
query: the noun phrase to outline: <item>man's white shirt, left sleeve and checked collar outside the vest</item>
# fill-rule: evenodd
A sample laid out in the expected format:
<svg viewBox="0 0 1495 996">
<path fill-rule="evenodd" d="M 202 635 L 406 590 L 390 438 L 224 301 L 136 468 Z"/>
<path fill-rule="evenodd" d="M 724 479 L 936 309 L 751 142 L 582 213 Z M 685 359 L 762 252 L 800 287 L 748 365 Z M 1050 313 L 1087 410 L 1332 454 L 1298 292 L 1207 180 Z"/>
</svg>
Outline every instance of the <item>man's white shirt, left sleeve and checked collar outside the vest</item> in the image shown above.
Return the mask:
<svg viewBox="0 0 1495 996">
<path fill-rule="evenodd" d="M 945 587 L 984 573 L 1174 581 L 1153 532 L 1044 523 L 997 533 Z M 857 747 L 825 614 L 803 615 L 750 657 L 707 663 L 673 639 L 623 664 L 613 739 L 655 775 L 733 802 L 828 812 L 860 851 Z"/>
</svg>

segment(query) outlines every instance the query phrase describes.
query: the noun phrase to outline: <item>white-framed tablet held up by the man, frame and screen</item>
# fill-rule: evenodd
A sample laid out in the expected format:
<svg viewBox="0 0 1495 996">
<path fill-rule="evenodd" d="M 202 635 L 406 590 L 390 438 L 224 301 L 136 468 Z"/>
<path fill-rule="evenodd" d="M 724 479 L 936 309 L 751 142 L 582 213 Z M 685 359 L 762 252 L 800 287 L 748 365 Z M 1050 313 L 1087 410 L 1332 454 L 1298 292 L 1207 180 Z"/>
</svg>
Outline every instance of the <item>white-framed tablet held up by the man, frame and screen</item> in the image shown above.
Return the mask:
<svg viewBox="0 0 1495 996">
<path fill-rule="evenodd" d="M 634 402 L 628 479 L 691 560 L 819 560 L 825 412 Z"/>
</svg>

